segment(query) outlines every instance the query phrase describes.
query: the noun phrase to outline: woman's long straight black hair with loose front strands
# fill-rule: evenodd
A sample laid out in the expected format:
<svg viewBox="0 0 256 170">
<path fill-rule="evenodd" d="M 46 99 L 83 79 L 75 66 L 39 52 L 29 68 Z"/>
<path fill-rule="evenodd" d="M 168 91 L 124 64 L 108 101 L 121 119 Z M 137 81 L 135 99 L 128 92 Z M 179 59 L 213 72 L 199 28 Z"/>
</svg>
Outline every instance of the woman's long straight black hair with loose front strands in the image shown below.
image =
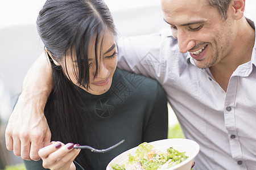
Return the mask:
<svg viewBox="0 0 256 170">
<path fill-rule="evenodd" d="M 97 46 L 102 43 L 101 37 L 106 31 L 116 35 L 112 15 L 101 0 L 48 0 L 39 12 L 36 24 L 49 54 L 64 66 L 56 66 L 48 54 L 52 64 L 53 89 L 44 113 L 52 140 L 80 143 L 84 138 L 81 126 L 86 126 L 86 121 L 89 120 L 82 120 L 79 91 L 63 72 L 66 56 L 77 62 L 77 69 L 73 69 L 77 83 L 89 88 L 89 42 L 96 40 L 96 76 L 97 56 L 100 55 L 97 53 Z M 90 167 L 86 160 L 81 159 L 81 153 L 76 161 L 84 168 Z"/>
</svg>

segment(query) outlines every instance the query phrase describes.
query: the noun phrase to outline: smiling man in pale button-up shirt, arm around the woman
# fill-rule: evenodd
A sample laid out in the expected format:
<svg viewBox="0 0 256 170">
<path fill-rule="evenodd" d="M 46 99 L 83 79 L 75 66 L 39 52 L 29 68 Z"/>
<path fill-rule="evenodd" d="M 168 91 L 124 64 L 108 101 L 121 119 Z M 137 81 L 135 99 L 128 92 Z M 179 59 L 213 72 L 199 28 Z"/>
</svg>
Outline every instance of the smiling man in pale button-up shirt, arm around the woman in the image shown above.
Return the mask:
<svg viewBox="0 0 256 170">
<path fill-rule="evenodd" d="M 119 67 L 151 76 L 162 84 L 186 138 L 200 145 L 196 169 L 254 169 L 255 25 L 243 16 L 245 0 L 162 0 L 161 5 L 171 31 L 122 39 L 118 43 Z M 49 136 L 43 107 L 51 78 L 49 71 L 42 71 L 46 64 L 37 63 L 38 74 L 47 82 L 32 85 L 40 77 L 28 73 L 34 80 L 25 80 L 30 87 L 25 86 L 23 100 L 18 101 L 6 130 L 7 148 L 27 159 L 29 155 L 36 158 L 39 148 L 35 143 Z M 32 96 L 36 87 L 40 90 Z M 32 100 L 38 99 L 38 94 L 43 98 L 39 106 Z M 29 101 L 24 96 L 29 96 Z M 31 108 L 40 110 L 27 113 Z M 32 117 L 31 122 L 26 116 Z M 15 124 L 15 118 L 44 131 L 22 135 L 20 129 L 28 126 Z M 24 138 L 29 141 L 24 142 Z"/>
</svg>

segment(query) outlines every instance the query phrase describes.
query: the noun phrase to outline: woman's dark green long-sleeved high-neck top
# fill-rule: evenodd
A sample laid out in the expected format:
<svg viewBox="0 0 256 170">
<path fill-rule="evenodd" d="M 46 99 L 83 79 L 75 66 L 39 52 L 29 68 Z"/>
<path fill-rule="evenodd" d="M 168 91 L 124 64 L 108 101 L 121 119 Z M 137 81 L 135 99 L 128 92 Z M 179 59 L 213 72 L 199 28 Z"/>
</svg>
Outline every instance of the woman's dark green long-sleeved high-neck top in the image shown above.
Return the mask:
<svg viewBox="0 0 256 170">
<path fill-rule="evenodd" d="M 86 145 L 102 149 L 125 139 L 122 145 L 104 154 L 85 151 L 85 161 L 95 170 L 106 169 L 115 156 L 142 142 L 167 138 L 167 99 L 156 80 L 116 69 L 109 91 L 92 95 L 81 90 L 81 98 L 87 111 L 84 118 L 92 120 L 88 125 L 92 128 L 80 127 L 84 128 Z M 24 164 L 27 169 L 43 169 L 42 161 Z"/>
</svg>

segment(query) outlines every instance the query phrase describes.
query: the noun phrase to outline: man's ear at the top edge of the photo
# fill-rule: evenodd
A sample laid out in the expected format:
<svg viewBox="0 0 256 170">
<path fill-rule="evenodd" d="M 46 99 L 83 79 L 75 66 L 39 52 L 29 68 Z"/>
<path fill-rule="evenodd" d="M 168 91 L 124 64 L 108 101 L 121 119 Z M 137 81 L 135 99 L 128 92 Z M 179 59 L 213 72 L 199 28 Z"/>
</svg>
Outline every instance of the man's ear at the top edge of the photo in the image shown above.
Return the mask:
<svg viewBox="0 0 256 170">
<path fill-rule="evenodd" d="M 231 1 L 234 19 L 241 19 L 243 12 L 245 12 L 245 0 L 232 0 Z"/>
</svg>

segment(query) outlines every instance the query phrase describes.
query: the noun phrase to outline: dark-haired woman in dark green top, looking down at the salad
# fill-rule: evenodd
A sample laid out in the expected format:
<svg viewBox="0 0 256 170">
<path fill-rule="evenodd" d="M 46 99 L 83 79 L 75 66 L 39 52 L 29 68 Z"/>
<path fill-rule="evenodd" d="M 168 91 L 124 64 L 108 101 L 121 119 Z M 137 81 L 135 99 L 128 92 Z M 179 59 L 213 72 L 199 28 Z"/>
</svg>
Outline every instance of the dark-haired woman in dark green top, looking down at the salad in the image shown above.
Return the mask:
<svg viewBox="0 0 256 170">
<path fill-rule="evenodd" d="M 48 0 L 37 27 L 53 77 L 44 112 L 52 141 L 61 141 L 39 151 L 44 168 L 105 169 L 121 152 L 167 138 L 164 91 L 155 80 L 116 69 L 117 33 L 103 1 Z M 122 139 L 104 154 L 73 148 L 107 148 Z M 43 169 L 40 161 L 25 165 Z"/>
</svg>

